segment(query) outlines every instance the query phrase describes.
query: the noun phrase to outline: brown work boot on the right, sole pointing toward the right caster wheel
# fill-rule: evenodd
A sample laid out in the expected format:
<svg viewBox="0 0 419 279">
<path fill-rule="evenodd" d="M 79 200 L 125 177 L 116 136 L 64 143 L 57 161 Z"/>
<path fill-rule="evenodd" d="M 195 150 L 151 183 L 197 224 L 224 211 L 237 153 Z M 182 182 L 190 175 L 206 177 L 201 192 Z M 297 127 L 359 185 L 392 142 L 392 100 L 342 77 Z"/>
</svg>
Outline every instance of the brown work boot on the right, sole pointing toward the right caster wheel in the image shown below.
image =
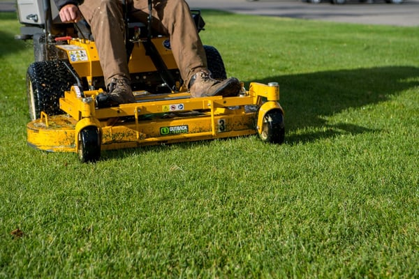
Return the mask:
<svg viewBox="0 0 419 279">
<path fill-rule="evenodd" d="M 193 98 L 210 96 L 237 96 L 242 86 L 235 77 L 219 81 L 211 77 L 211 73 L 206 70 L 200 70 L 191 77 L 189 82 L 189 91 Z"/>
</svg>

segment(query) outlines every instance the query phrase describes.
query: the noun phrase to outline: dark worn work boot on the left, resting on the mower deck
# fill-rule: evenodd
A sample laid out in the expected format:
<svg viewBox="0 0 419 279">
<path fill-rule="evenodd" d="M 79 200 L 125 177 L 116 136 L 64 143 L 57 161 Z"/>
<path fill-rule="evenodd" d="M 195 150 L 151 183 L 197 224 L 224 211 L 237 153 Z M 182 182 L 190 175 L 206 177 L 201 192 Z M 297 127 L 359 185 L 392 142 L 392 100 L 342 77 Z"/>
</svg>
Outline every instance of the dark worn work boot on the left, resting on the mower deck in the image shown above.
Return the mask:
<svg viewBox="0 0 419 279">
<path fill-rule="evenodd" d="M 133 91 L 126 77 L 115 77 L 108 84 L 108 93 L 96 96 L 96 105 L 101 107 L 117 107 L 121 104 L 134 103 Z"/>
</svg>

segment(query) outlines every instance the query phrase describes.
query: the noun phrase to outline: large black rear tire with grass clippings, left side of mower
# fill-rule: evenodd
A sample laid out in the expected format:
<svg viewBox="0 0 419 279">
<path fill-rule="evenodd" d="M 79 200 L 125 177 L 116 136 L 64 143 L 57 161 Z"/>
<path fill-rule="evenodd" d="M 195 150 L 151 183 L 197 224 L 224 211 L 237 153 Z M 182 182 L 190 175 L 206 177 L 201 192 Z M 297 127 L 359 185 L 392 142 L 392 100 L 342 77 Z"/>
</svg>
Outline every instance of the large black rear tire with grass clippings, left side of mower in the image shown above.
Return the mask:
<svg viewBox="0 0 419 279">
<path fill-rule="evenodd" d="M 41 112 L 57 115 L 59 98 L 64 91 L 76 83 L 75 77 L 64 65 L 66 61 L 38 61 L 31 63 L 27 70 L 27 98 L 31 120 L 38 119 Z"/>
</svg>

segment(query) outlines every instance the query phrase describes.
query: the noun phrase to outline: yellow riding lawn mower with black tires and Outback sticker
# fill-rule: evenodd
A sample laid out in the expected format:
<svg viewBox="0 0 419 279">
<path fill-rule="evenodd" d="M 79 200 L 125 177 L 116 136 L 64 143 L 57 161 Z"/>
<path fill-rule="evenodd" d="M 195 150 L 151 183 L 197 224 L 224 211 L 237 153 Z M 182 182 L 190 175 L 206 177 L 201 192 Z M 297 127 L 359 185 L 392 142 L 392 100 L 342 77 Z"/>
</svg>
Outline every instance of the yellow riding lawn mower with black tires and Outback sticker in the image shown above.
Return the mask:
<svg viewBox="0 0 419 279">
<path fill-rule="evenodd" d="M 36 149 L 75 152 L 82 162 L 94 162 L 103 150 L 150 144 L 253 134 L 265 142 L 284 142 L 284 110 L 276 82 L 251 82 L 234 97 L 191 98 L 170 41 L 151 35 L 151 24 L 126 24 L 135 103 L 98 108 L 95 98 L 105 84 L 87 24 L 62 24 L 49 0 L 17 0 L 17 10 L 23 24 L 17 38 L 34 41 L 35 61 L 27 70 L 27 141 Z M 200 11 L 191 14 L 202 30 Z M 216 48 L 205 45 L 205 53 L 212 77 L 225 79 Z"/>
</svg>

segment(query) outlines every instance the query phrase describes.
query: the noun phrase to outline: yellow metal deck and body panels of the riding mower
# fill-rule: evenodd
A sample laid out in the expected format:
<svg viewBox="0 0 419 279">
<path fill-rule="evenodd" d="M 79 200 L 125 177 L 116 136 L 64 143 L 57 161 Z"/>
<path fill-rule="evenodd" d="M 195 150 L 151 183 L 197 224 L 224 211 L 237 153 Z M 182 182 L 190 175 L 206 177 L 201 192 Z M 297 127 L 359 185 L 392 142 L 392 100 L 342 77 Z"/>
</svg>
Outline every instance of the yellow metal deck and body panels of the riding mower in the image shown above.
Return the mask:
<svg viewBox="0 0 419 279">
<path fill-rule="evenodd" d="M 168 68 L 175 68 L 171 50 L 163 47 L 165 38 L 153 40 Z M 93 42 L 73 39 L 68 45 L 57 47 L 67 52 L 73 68 L 80 77 L 87 77 L 89 85 L 93 77 L 103 75 Z M 135 57 L 149 59 L 140 43 L 135 45 L 131 60 Z M 131 73 L 156 70 L 152 61 L 130 63 L 130 67 Z M 96 109 L 95 98 L 102 92 L 82 92 L 78 86 L 72 86 L 59 100 L 65 114 L 48 116 L 42 112 L 40 119 L 28 123 L 28 144 L 45 151 L 77 153 L 80 131 L 92 126 L 98 129 L 101 150 L 239 137 L 262 133 L 263 117 L 270 110 L 284 114 L 276 83 L 252 82 L 249 91 L 228 98 L 138 91 L 133 92 L 135 103 Z"/>
</svg>

